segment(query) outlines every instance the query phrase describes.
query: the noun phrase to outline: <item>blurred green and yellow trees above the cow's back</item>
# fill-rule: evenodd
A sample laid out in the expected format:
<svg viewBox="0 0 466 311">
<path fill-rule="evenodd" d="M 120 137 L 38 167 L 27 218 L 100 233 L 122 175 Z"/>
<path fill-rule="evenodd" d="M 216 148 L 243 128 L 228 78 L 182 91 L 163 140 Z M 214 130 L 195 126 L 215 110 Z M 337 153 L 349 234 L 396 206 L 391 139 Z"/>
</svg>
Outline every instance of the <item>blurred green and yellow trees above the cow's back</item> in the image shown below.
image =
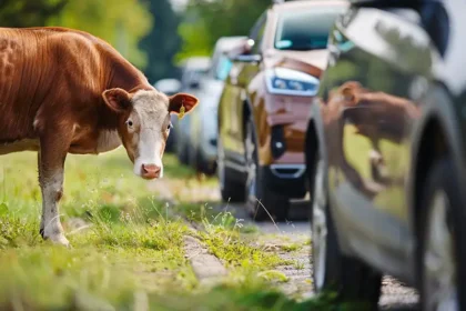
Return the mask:
<svg viewBox="0 0 466 311">
<path fill-rule="evenodd" d="M 174 11 L 172 4 L 184 9 Z M 245 36 L 272 0 L 0 0 L 0 27 L 62 26 L 109 41 L 151 83 L 175 61 L 209 56 L 220 37 Z M 176 57 L 175 57 L 176 56 Z"/>
</svg>

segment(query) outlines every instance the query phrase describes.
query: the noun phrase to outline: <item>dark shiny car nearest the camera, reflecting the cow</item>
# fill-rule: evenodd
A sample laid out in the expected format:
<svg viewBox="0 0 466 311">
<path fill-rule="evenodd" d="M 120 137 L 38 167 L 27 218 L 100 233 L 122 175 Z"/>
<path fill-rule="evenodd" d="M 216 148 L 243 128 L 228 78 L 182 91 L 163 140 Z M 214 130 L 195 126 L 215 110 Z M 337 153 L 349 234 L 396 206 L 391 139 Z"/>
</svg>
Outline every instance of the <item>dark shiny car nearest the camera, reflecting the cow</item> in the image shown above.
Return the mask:
<svg viewBox="0 0 466 311">
<path fill-rule="evenodd" d="M 464 1 L 353 1 L 311 106 L 314 287 L 376 308 L 466 310 Z"/>
</svg>

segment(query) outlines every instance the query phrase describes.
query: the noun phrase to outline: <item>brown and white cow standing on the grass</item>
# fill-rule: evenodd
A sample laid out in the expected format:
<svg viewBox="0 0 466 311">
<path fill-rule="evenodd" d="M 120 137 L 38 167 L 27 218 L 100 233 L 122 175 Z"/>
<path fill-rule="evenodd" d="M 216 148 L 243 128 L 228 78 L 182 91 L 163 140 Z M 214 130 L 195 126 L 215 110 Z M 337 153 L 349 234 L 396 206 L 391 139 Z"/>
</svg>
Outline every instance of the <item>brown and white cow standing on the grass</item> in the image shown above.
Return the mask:
<svg viewBox="0 0 466 311">
<path fill-rule="evenodd" d="M 160 178 L 170 113 L 196 103 L 190 94 L 159 92 L 89 33 L 0 28 L 0 154 L 39 151 L 40 233 L 55 243 L 68 245 L 58 209 L 68 153 L 98 154 L 123 144 L 134 173 Z"/>
</svg>

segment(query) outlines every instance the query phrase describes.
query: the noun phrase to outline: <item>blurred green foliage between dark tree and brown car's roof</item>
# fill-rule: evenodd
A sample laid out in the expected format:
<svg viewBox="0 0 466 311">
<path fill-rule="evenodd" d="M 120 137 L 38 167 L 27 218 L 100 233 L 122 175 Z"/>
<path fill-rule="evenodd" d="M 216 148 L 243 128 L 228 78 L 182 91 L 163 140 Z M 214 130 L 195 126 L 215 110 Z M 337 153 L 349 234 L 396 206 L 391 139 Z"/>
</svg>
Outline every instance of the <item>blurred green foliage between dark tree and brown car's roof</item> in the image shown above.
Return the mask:
<svg viewBox="0 0 466 311">
<path fill-rule="evenodd" d="M 178 60 L 209 56 L 215 41 L 226 36 L 247 36 L 272 0 L 190 0 L 179 32 L 183 46 Z"/>
</svg>

